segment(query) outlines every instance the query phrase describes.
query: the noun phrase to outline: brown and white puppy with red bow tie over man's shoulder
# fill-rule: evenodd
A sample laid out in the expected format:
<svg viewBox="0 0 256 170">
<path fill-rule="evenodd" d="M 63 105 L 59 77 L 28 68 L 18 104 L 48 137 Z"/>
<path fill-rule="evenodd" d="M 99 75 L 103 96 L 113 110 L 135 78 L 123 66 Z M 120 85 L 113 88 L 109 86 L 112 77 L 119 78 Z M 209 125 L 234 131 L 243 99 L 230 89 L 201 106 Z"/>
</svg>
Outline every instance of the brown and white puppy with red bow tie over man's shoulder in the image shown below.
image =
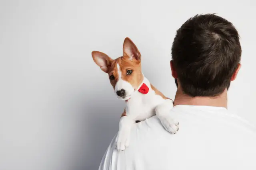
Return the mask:
<svg viewBox="0 0 256 170">
<path fill-rule="evenodd" d="M 126 102 L 119 122 L 117 150 L 125 150 L 130 141 L 130 129 L 136 121 L 157 115 L 163 127 L 170 133 L 178 131 L 178 121 L 170 116 L 173 100 L 158 91 L 141 70 L 141 55 L 127 37 L 123 44 L 123 56 L 111 59 L 99 51 L 92 51 L 94 62 L 108 74 L 116 96 Z"/>
</svg>

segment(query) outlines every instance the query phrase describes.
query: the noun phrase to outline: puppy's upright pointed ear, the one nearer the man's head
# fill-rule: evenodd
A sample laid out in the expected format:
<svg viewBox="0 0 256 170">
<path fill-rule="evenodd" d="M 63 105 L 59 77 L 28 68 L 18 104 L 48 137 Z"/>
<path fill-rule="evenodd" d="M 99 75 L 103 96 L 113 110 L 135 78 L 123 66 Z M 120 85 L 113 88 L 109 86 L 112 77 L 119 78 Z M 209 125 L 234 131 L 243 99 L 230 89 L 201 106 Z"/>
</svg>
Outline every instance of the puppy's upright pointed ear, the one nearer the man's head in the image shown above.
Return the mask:
<svg viewBox="0 0 256 170">
<path fill-rule="evenodd" d="M 136 59 L 137 61 L 140 61 L 140 51 L 128 37 L 124 39 L 123 51 L 124 57 L 129 57 L 130 60 Z"/>
</svg>

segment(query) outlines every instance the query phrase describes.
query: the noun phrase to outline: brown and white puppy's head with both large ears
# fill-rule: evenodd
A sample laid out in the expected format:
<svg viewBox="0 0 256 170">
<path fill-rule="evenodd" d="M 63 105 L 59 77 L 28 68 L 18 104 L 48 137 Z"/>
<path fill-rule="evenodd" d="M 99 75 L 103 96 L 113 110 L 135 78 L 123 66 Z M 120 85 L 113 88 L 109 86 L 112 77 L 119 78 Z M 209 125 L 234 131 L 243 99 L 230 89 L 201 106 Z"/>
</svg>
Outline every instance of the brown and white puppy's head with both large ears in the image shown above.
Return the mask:
<svg viewBox="0 0 256 170">
<path fill-rule="evenodd" d="M 101 70 L 108 74 L 119 99 L 131 98 L 143 81 L 140 52 L 128 37 L 124 40 L 122 57 L 111 59 L 102 52 L 92 51 L 92 58 Z"/>
</svg>

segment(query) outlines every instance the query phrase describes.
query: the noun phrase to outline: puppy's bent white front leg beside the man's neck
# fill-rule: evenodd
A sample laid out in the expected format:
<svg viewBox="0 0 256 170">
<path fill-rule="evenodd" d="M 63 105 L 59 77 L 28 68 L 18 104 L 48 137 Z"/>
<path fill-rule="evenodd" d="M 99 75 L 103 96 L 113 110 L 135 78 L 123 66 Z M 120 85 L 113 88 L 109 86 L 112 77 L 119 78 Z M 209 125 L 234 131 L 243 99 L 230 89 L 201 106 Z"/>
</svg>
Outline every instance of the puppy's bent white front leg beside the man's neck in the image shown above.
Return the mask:
<svg viewBox="0 0 256 170">
<path fill-rule="evenodd" d="M 172 108 L 173 101 L 171 99 L 165 99 L 162 104 L 156 106 L 156 115 L 168 132 L 176 134 L 179 130 L 179 122 L 171 117 L 170 110 Z"/>
</svg>

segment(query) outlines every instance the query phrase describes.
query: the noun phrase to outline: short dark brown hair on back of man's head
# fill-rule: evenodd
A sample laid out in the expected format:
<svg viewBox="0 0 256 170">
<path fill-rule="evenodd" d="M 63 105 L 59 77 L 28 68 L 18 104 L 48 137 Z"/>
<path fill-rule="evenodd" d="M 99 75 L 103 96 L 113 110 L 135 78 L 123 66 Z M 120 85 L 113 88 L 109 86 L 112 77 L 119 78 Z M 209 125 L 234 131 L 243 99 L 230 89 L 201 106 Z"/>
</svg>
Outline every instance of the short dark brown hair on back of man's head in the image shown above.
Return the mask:
<svg viewBox="0 0 256 170">
<path fill-rule="evenodd" d="M 230 86 L 241 53 L 232 23 L 214 14 L 190 18 L 177 30 L 172 45 L 182 91 L 192 97 L 221 94 Z"/>
</svg>

